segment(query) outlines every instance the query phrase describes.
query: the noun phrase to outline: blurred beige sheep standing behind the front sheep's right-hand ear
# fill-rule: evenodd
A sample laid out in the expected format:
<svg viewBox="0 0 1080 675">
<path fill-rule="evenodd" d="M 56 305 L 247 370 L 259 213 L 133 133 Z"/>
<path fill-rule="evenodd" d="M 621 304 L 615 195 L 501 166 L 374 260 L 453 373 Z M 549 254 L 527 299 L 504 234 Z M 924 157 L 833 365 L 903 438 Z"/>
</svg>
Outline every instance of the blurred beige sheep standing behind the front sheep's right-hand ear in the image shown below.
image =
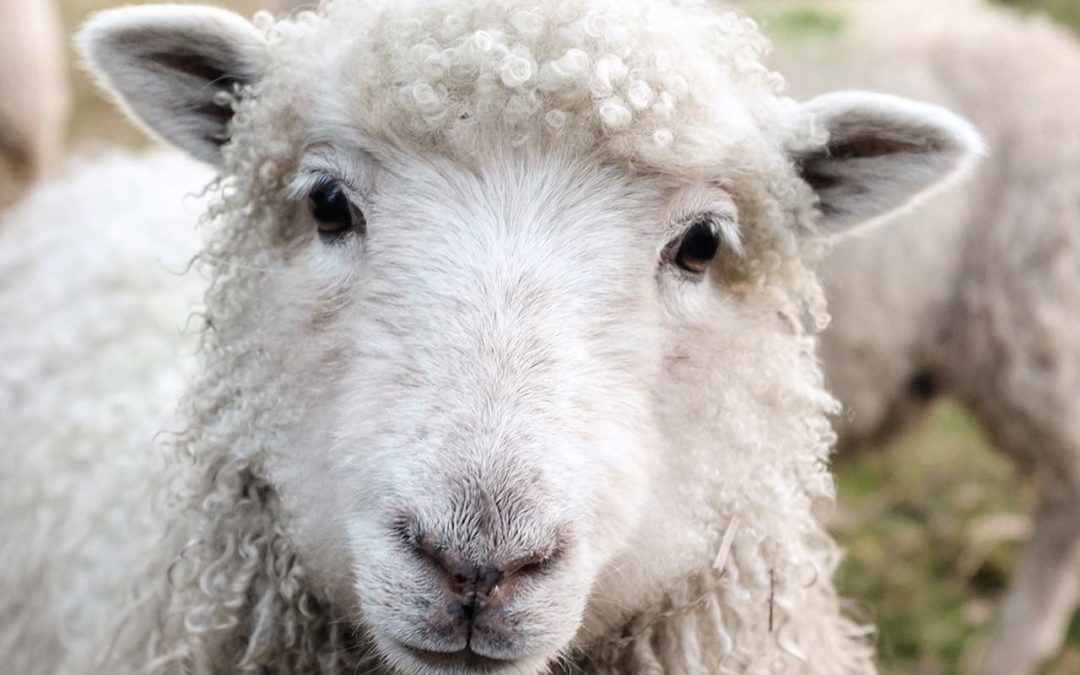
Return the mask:
<svg viewBox="0 0 1080 675">
<path fill-rule="evenodd" d="M 847 408 L 841 448 L 903 431 L 945 394 L 1034 477 L 1030 541 L 982 665 L 1031 673 L 1080 599 L 1080 49 L 971 0 L 815 6 L 842 27 L 781 45 L 773 65 L 796 91 L 889 86 L 988 138 L 977 179 L 831 254 L 822 355 Z"/>
</svg>

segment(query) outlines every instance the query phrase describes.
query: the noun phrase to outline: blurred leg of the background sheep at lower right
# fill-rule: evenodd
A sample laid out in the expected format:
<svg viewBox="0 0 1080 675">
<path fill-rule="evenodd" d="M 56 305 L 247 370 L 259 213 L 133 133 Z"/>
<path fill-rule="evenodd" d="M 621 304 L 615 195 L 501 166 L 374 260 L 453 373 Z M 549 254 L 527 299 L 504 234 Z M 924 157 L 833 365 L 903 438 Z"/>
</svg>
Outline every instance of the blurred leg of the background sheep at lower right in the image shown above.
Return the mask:
<svg viewBox="0 0 1080 675">
<path fill-rule="evenodd" d="M 1061 648 L 1080 600 L 1080 492 L 1039 481 L 1042 503 L 1001 604 L 983 675 L 1025 675 Z"/>
</svg>

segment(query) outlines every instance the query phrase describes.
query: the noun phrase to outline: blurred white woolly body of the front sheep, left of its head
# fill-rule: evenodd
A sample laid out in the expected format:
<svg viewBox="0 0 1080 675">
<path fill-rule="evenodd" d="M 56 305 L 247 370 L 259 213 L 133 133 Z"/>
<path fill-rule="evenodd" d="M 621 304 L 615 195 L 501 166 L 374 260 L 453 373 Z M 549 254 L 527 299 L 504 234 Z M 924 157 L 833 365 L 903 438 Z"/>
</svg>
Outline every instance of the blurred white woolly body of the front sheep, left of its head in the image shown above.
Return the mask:
<svg viewBox="0 0 1080 675">
<path fill-rule="evenodd" d="M 89 672 L 89 647 L 118 619 L 102 598 L 123 597 L 159 542 L 156 438 L 180 429 L 173 409 L 204 286 L 185 273 L 199 246 L 193 193 L 210 178 L 174 153 L 82 158 L 2 220 L 0 653 L 10 672 Z M 24 648 L 43 634 L 51 644 Z"/>
</svg>

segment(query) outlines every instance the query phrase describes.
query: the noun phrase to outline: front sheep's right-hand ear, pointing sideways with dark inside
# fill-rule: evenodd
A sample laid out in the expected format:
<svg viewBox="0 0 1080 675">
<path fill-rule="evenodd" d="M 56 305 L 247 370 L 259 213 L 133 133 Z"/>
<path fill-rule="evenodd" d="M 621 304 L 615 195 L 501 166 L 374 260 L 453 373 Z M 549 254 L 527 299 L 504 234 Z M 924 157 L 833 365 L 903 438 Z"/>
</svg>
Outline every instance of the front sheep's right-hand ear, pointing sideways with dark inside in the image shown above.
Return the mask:
<svg viewBox="0 0 1080 675">
<path fill-rule="evenodd" d="M 967 120 L 906 98 L 843 92 L 799 107 L 828 141 L 796 152 L 802 177 L 820 198 L 822 232 L 877 220 L 966 174 L 983 153 Z"/>
</svg>

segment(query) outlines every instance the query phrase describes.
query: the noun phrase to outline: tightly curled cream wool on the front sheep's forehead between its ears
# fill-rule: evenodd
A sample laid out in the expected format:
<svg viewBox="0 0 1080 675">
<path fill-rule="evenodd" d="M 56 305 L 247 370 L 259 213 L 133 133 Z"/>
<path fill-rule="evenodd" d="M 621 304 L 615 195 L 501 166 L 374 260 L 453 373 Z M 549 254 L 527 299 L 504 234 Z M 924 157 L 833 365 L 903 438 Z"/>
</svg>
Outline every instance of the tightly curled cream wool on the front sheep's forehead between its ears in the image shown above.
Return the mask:
<svg viewBox="0 0 1080 675">
<path fill-rule="evenodd" d="M 270 79 L 305 78 L 313 124 L 453 157 L 539 141 L 669 172 L 760 165 L 792 105 L 754 22 L 700 1 L 334 0 L 271 38 Z"/>
</svg>

